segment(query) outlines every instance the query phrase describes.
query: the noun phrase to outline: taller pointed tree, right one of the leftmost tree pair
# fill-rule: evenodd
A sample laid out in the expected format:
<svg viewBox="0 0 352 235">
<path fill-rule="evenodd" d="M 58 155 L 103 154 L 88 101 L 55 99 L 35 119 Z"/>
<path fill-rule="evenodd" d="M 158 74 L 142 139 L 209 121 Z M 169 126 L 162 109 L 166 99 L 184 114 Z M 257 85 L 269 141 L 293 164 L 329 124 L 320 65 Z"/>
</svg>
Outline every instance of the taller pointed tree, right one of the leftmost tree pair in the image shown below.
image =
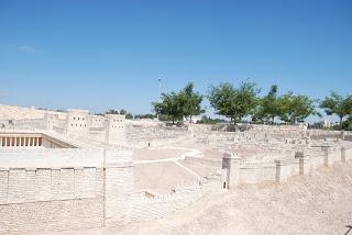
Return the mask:
<svg viewBox="0 0 352 235">
<path fill-rule="evenodd" d="M 202 96 L 194 91 L 194 83 L 189 82 L 179 93 L 177 94 L 179 105 L 182 107 L 182 115 L 191 119 L 195 115 L 200 115 L 205 112 L 201 109 Z"/>
</svg>

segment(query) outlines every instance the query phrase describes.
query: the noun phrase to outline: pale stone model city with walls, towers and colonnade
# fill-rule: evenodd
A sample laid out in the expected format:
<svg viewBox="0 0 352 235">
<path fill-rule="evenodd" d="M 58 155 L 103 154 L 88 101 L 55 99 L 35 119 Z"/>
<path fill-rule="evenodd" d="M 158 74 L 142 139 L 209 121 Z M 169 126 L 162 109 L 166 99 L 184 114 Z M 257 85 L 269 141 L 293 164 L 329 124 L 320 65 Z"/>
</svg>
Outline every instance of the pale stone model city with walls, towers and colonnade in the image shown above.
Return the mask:
<svg viewBox="0 0 352 235">
<path fill-rule="evenodd" d="M 0 105 L 0 234 L 162 217 L 206 193 L 280 182 L 352 158 L 350 133 L 306 126 L 252 125 L 234 133 L 221 128 L 166 127 L 157 121 L 128 125 L 124 115 Z M 134 169 L 152 159 L 134 160 L 133 152 L 185 139 L 199 148 L 183 148 L 189 153 L 153 163 L 170 161 L 194 181 L 163 195 L 136 190 Z"/>
</svg>

